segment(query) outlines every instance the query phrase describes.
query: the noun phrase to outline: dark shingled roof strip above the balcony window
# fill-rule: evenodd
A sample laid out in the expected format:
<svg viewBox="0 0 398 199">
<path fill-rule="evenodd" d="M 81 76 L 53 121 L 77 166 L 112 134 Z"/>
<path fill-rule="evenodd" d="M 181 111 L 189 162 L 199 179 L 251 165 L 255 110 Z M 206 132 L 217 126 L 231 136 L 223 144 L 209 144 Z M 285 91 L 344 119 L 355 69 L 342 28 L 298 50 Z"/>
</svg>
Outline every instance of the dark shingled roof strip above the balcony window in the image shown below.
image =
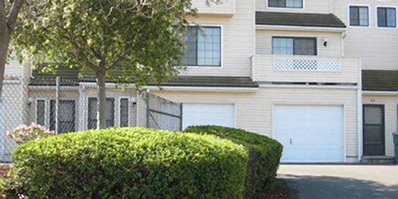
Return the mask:
<svg viewBox="0 0 398 199">
<path fill-rule="evenodd" d="M 290 25 L 311 27 L 345 28 L 336 15 L 321 13 L 256 12 L 257 25 Z"/>
</svg>

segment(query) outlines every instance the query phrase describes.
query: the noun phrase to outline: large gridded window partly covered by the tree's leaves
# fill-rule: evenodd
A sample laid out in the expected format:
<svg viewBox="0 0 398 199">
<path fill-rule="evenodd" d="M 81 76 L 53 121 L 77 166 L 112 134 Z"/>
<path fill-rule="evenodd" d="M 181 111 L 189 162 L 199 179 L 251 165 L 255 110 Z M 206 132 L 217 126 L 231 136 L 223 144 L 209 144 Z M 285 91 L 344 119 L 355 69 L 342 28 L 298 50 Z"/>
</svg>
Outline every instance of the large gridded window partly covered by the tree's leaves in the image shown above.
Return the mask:
<svg viewBox="0 0 398 199">
<path fill-rule="evenodd" d="M 186 45 L 184 66 L 221 66 L 220 27 L 190 27 Z"/>
</svg>

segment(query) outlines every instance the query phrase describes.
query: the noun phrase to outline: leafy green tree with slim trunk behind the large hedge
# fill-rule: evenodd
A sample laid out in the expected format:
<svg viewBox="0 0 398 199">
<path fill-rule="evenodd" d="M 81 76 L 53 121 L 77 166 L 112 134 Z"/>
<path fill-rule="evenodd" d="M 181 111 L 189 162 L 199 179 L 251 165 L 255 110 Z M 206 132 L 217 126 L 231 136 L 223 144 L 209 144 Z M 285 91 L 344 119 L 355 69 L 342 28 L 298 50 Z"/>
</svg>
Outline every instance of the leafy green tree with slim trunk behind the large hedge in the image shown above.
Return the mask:
<svg viewBox="0 0 398 199">
<path fill-rule="evenodd" d="M 62 64 L 94 73 L 98 128 L 105 128 L 106 79 L 134 80 L 139 88 L 178 74 L 187 18 L 196 14 L 191 6 L 191 0 L 29 0 L 12 44 L 33 55 L 33 63 L 49 63 L 48 70 Z"/>
</svg>

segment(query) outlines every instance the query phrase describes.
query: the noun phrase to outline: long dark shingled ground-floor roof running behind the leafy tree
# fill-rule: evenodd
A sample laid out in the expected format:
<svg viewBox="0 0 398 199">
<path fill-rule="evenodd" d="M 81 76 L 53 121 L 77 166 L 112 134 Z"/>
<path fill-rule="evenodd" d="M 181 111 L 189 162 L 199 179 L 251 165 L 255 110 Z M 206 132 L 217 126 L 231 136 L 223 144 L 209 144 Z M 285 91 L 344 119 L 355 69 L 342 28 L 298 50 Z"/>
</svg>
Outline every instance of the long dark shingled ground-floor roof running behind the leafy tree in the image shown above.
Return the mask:
<svg viewBox="0 0 398 199">
<path fill-rule="evenodd" d="M 79 77 L 79 70 L 60 67 L 55 74 L 42 73 L 41 69 L 35 69 L 32 72 L 30 80 L 31 86 L 54 86 L 56 77 L 61 78 L 63 86 L 77 86 L 79 82 L 96 82 L 93 76 Z M 107 82 L 112 82 L 107 80 Z M 134 82 L 132 82 L 134 83 Z M 250 77 L 220 77 L 220 76 L 176 76 L 172 77 L 168 82 L 156 85 L 154 83 L 149 86 L 183 86 L 183 87 L 232 87 L 232 88 L 258 88 L 258 84 L 253 82 Z"/>
</svg>

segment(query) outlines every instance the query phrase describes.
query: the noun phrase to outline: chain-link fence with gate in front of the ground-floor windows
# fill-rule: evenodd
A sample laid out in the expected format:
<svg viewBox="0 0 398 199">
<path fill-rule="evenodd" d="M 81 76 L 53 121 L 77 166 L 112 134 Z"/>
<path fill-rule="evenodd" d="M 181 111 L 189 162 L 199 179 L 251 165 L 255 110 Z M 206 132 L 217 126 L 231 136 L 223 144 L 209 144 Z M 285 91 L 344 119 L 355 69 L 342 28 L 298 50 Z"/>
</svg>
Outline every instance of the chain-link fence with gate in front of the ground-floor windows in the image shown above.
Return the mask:
<svg viewBox="0 0 398 199">
<path fill-rule="evenodd" d="M 10 162 L 16 144 L 7 132 L 36 123 L 56 134 L 97 127 L 95 82 L 61 77 L 4 80 L 0 100 L 0 162 Z M 107 127 L 181 130 L 182 105 L 133 86 L 106 85 Z"/>
</svg>

